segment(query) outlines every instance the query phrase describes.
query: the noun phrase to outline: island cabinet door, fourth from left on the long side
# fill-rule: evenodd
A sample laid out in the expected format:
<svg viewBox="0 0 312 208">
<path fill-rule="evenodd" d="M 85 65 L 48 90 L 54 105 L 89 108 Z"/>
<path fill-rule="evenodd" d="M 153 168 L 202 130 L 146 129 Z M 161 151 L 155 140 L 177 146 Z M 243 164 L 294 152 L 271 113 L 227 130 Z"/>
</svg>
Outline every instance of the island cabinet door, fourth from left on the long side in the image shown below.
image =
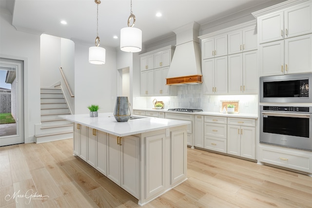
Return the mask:
<svg viewBox="0 0 312 208">
<path fill-rule="evenodd" d="M 97 131 L 97 170 L 107 176 L 106 160 L 107 160 L 107 139 L 106 133 Z"/>
</svg>

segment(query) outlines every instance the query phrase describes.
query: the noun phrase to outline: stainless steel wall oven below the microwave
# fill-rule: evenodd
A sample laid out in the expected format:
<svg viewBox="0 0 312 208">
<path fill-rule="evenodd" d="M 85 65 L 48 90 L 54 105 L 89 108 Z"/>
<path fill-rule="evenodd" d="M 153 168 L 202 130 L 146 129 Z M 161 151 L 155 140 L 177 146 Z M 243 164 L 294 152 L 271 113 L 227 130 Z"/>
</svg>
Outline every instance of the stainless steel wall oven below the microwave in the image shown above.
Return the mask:
<svg viewBox="0 0 312 208">
<path fill-rule="evenodd" d="M 260 106 L 260 143 L 312 151 L 312 107 Z"/>
</svg>

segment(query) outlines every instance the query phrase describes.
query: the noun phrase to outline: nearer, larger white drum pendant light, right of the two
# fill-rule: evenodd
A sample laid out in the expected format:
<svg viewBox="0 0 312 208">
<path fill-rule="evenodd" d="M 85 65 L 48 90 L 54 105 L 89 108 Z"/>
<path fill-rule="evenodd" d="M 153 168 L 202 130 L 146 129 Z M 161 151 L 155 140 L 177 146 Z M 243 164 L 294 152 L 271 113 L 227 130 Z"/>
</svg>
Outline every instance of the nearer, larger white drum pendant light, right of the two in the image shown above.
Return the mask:
<svg viewBox="0 0 312 208">
<path fill-rule="evenodd" d="M 133 23 L 130 25 L 131 20 Z M 133 27 L 136 23 L 136 16 L 132 14 L 132 0 L 128 27 L 120 30 L 120 50 L 125 52 L 140 52 L 142 50 L 142 31 Z"/>
</svg>

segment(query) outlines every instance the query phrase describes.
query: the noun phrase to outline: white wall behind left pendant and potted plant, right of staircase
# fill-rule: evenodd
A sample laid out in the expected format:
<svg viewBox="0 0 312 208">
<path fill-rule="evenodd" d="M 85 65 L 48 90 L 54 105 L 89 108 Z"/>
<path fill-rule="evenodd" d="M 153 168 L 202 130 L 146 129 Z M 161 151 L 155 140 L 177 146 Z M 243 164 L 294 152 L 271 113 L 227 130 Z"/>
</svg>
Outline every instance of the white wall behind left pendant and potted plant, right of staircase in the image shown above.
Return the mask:
<svg viewBox="0 0 312 208">
<path fill-rule="evenodd" d="M 97 104 L 99 113 L 113 112 L 117 95 L 115 49 L 106 49 L 106 63 L 89 63 L 89 47 L 75 43 L 75 114 L 89 113 Z M 105 46 L 104 46 L 105 47 Z"/>
</svg>

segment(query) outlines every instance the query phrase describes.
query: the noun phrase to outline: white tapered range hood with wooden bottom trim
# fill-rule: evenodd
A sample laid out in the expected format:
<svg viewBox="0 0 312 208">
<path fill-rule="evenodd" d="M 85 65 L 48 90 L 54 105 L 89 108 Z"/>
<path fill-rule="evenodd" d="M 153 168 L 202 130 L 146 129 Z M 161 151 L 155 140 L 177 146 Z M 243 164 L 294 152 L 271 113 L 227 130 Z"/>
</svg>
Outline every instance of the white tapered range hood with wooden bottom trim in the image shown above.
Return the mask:
<svg viewBox="0 0 312 208">
<path fill-rule="evenodd" d="M 201 54 L 198 42 L 200 25 L 191 22 L 174 30 L 176 50 L 167 75 L 167 85 L 200 84 Z"/>
</svg>

